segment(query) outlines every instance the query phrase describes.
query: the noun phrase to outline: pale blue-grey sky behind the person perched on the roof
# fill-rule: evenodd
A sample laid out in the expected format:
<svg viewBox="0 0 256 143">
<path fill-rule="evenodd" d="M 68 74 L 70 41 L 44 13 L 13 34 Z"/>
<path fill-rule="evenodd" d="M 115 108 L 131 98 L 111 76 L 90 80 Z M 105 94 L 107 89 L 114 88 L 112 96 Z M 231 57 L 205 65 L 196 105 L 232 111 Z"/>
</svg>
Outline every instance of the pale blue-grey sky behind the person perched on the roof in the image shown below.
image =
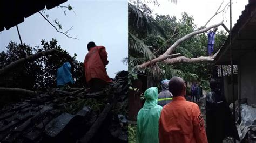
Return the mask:
<svg viewBox="0 0 256 143">
<path fill-rule="evenodd" d="M 110 77 L 114 78 L 117 71 L 127 70 L 127 66 L 121 62 L 128 54 L 127 1 L 70 0 L 61 5 L 68 4 L 74 8 L 76 15 L 72 11 L 67 11 L 64 15 L 62 9 L 57 7 L 46 11 L 46 13 L 49 14 L 50 22 L 56 18 L 60 21 L 64 32 L 73 26 L 69 34 L 73 37 L 77 36 L 79 40 L 67 38 L 56 32 L 39 13 L 35 13 L 18 25 L 23 43 L 34 47 L 40 46 L 42 39 L 50 41 L 55 38 L 58 45 L 66 49 L 70 55 L 76 53 L 78 55 L 77 60 L 84 62 L 84 57 L 87 54 L 87 43 L 95 41 L 96 45 L 105 46 L 107 53 L 109 53 L 107 73 Z M 0 51 L 6 51 L 5 46 L 11 40 L 20 43 L 16 27 L 1 32 Z"/>
</svg>

